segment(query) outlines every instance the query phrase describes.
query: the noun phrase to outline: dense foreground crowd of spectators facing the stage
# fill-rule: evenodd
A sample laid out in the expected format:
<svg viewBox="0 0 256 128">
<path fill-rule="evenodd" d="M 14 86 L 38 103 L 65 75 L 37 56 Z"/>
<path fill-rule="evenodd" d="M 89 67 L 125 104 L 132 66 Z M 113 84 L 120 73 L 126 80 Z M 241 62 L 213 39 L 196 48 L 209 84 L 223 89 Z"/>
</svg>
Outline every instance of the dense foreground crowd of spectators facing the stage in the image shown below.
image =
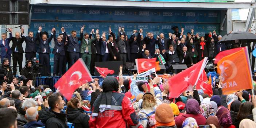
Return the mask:
<svg viewBox="0 0 256 128">
<path fill-rule="evenodd" d="M 0 86 L 1 128 L 67 128 L 68 123 L 75 128 L 256 128 L 252 90 L 222 94 L 220 76 L 211 66 L 205 70 L 213 77 L 212 94 L 194 89 L 178 98 L 168 98 L 166 79 L 151 75 L 139 82 L 137 73 L 124 79 L 122 66 L 118 78 L 84 83 L 69 101 L 48 85 L 16 85 L 14 78 Z"/>
</svg>

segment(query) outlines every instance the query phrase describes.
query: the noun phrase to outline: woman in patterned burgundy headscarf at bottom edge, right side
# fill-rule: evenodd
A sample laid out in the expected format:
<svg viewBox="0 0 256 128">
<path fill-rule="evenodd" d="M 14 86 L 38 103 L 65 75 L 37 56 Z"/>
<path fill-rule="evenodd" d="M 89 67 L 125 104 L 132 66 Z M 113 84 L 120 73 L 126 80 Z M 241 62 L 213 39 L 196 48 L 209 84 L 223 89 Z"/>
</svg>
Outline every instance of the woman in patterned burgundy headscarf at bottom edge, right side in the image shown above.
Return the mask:
<svg viewBox="0 0 256 128">
<path fill-rule="evenodd" d="M 216 116 L 223 128 L 236 128 L 234 125 L 232 125 L 232 119 L 229 110 L 224 106 L 220 106 L 218 108 Z"/>
</svg>

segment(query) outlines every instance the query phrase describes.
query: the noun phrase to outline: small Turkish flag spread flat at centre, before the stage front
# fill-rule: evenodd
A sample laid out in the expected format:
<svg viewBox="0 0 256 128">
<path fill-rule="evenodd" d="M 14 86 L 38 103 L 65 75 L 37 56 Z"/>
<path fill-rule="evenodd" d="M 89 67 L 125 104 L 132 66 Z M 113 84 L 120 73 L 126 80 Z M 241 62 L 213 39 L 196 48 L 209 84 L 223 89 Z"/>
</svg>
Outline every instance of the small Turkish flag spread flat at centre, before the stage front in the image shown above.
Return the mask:
<svg viewBox="0 0 256 128">
<path fill-rule="evenodd" d="M 159 62 L 156 62 L 156 58 L 152 59 L 135 59 L 136 67 L 138 73 L 142 73 L 144 71 L 148 71 L 150 69 L 155 68 L 156 71 L 159 71 L 161 68 L 159 67 Z"/>
</svg>

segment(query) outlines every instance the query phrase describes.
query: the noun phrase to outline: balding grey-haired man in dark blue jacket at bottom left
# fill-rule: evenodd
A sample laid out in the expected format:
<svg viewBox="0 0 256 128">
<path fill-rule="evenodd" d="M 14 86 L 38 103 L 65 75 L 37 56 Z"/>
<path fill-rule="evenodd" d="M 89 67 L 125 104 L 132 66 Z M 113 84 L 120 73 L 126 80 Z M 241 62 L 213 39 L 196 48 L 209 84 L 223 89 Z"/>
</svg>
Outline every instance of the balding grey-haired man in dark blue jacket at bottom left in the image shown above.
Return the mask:
<svg viewBox="0 0 256 128">
<path fill-rule="evenodd" d="M 24 125 L 24 128 L 37 128 L 44 126 L 44 124 L 40 120 L 37 121 L 38 111 L 34 106 L 26 110 L 25 118 L 28 120 L 28 123 Z"/>
</svg>

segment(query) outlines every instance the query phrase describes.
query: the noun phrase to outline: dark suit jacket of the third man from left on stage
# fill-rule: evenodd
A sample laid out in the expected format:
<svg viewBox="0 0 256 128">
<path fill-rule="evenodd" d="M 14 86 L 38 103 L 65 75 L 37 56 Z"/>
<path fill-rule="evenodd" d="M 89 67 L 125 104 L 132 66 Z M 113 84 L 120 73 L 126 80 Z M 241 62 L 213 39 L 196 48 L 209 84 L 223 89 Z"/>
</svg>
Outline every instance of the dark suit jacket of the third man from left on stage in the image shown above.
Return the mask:
<svg viewBox="0 0 256 128">
<path fill-rule="evenodd" d="M 22 38 L 25 40 L 26 43 L 26 48 L 25 48 L 25 53 L 30 53 L 30 52 L 34 52 L 36 53 L 36 41 L 38 40 L 37 38 L 38 36 L 36 35 L 36 37 L 33 37 L 31 39 L 30 36 L 24 36 L 22 34 Z"/>
</svg>

